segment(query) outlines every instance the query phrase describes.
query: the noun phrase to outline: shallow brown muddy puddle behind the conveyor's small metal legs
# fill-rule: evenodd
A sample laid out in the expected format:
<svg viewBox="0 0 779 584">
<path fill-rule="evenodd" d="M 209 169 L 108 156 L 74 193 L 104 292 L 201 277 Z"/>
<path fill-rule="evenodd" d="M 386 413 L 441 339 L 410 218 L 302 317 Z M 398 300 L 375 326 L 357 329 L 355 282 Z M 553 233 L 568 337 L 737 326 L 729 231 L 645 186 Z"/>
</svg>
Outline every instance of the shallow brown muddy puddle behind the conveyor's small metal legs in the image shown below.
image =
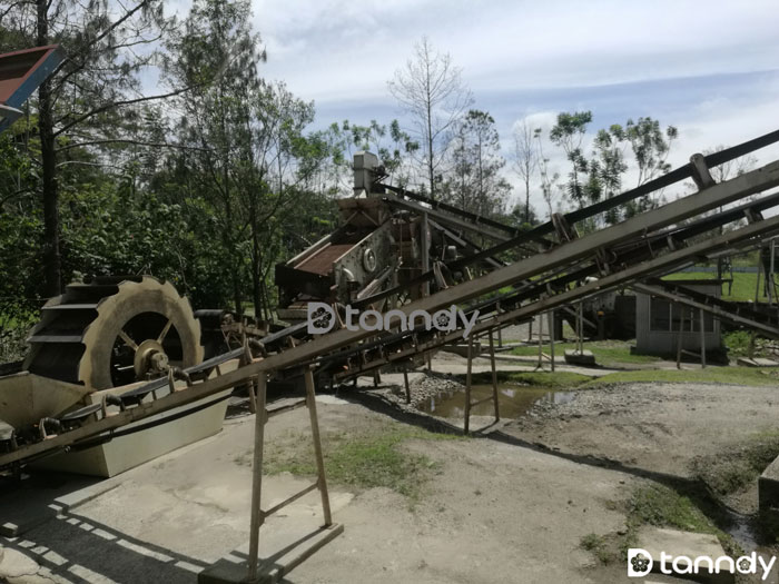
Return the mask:
<svg viewBox="0 0 779 584">
<path fill-rule="evenodd" d="M 471 402 L 479 402 L 492 395 L 492 385 L 474 385 L 471 387 Z M 502 418 L 517 418 L 523 416 L 536 402 L 552 402 L 565 404 L 575 396 L 574 392 L 550 392 L 534 387 L 517 385 L 499 385 L 497 400 L 501 406 Z M 431 397 L 417 406 L 423 412 L 440 417 L 462 417 L 465 407 L 465 389 L 445 392 L 436 397 Z M 479 404 L 471 408 L 473 416 L 492 416 L 494 407 L 492 400 Z"/>
</svg>

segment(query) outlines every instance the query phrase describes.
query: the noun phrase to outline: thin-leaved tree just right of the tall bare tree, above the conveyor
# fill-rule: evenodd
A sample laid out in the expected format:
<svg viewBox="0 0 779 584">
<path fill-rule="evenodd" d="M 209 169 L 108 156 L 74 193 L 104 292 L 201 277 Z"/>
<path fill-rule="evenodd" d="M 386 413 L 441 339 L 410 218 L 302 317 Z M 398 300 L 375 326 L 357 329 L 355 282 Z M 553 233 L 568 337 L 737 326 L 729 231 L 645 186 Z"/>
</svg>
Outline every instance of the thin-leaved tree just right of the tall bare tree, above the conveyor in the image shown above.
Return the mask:
<svg viewBox="0 0 779 584">
<path fill-rule="evenodd" d="M 477 215 L 502 212 L 511 185 L 501 176 L 505 160 L 500 150 L 495 120 L 486 111 L 470 110 L 454 130 L 447 198 Z"/>
</svg>

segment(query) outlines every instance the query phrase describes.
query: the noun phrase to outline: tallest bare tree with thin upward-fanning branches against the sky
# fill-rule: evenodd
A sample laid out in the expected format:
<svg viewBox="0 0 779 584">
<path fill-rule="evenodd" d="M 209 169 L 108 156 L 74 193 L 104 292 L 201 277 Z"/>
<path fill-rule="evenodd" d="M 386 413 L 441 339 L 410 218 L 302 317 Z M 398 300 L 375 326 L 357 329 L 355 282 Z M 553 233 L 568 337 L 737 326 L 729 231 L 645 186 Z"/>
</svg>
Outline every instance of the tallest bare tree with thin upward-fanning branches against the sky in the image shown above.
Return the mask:
<svg viewBox="0 0 779 584">
<path fill-rule="evenodd" d="M 389 92 L 411 116 L 418 137 L 421 164 L 430 196 L 435 198 L 440 168 L 450 141 L 450 130 L 473 102 L 463 85 L 462 70 L 448 53 L 437 52 L 427 37 L 414 46 L 413 57 L 388 82 Z"/>
</svg>

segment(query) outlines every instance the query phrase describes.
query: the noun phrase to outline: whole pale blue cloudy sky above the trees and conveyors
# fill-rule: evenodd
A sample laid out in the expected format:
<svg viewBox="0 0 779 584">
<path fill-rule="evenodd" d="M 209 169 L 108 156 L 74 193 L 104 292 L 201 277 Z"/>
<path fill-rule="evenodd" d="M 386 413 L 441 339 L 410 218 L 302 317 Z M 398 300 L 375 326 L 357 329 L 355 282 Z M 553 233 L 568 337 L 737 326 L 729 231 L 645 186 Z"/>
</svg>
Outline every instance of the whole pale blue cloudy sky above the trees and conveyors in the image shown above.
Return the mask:
<svg viewBox="0 0 779 584">
<path fill-rule="evenodd" d="M 263 75 L 314 100 L 315 127 L 403 122 L 387 81 L 427 36 L 462 68 L 474 107 L 494 117 L 506 158 L 519 120 L 548 130 L 560 111 L 591 110 L 593 133 L 640 116 L 673 125 L 673 166 L 779 128 L 777 0 L 253 0 L 253 9 Z M 758 157 L 766 164 L 779 148 Z M 565 171 L 561 156 L 550 166 Z"/>
</svg>

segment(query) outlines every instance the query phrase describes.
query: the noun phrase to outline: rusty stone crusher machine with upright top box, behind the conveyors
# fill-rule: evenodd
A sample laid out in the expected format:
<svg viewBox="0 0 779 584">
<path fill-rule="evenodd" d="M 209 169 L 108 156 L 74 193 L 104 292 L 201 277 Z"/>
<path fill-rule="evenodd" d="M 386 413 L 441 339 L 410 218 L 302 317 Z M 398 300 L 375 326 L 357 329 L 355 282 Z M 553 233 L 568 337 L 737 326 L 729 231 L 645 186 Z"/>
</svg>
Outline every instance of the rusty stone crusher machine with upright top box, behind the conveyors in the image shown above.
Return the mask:
<svg viewBox="0 0 779 584">
<path fill-rule="evenodd" d="M 375 155 L 355 155 L 355 196 L 337 200 L 342 227 L 276 266 L 282 320 L 306 320 L 310 301 L 357 306 L 392 289 L 393 294 L 372 304 L 374 309 L 387 310 L 470 278 L 469 269 L 505 265 L 490 256 L 450 270 L 447 264 L 481 251 L 463 231 L 494 237 L 490 229 L 495 226 L 509 234 L 515 230 L 448 205 L 431 209 L 403 200 L 389 192 L 394 187 L 378 184 L 382 178 L 384 169 Z M 503 241 L 507 234 L 497 237 Z M 428 270 L 434 275 L 431 283 L 423 277 Z"/>
</svg>

